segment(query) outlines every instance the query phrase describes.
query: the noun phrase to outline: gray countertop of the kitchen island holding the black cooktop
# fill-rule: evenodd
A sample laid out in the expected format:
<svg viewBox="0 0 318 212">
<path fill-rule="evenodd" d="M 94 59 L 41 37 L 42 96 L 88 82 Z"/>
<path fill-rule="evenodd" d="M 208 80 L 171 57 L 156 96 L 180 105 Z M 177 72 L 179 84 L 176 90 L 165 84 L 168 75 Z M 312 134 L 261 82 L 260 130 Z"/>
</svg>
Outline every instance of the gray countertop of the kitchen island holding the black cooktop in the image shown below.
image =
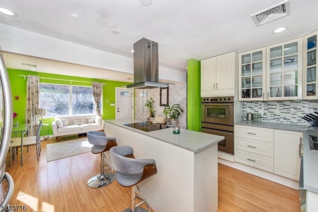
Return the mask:
<svg viewBox="0 0 318 212">
<path fill-rule="evenodd" d="M 170 143 L 172 145 L 178 146 L 180 148 L 187 149 L 194 153 L 203 151 L 204 149 L 209 148 L 210 146 L 216 144 L 219 141 L 224 139 L 223 136 L 216 136 L 207 133 L 201 133 L 196 131 L 190 131 L 186 129 L 181 129 L 180 134 L 173 134 L 172 127 L 155 130 L 151 132 L 145 132 L 138 130 L 132 127 L 125 126 L 124 124 L 144 122 L 137 119 L 116 119 L 116 120 L 104 120 L 105 123 L 113 124 L 121 128 L 125 128 L 129 131 L 133 131 L 145 136 Z"/>
</svg>

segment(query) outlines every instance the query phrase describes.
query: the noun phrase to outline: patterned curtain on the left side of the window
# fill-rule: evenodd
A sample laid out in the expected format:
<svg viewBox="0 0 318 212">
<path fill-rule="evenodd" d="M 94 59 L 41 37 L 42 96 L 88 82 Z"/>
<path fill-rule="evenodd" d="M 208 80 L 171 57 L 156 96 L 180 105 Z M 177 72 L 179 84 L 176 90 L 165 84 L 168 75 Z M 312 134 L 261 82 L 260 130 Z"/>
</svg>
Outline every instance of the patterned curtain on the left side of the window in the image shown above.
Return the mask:
<svg viewBox="0 0 318 212">
<path fill-rule="evenodd" d="M 26 83 L 25 123 L 29 124 L 29 136 L 35 136 L 36 111 L 39 108 L 40 77 L 28 75 Z"/>
</svg>

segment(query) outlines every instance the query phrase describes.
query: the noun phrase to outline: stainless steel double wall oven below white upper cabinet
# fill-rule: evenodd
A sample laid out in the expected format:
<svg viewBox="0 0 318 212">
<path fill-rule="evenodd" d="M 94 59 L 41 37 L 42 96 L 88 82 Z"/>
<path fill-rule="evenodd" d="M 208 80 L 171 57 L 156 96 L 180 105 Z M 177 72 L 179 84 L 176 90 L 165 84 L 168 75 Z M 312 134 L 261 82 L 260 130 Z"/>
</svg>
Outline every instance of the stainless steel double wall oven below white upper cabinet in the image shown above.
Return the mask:
<svg viewBox="0 0 318 212">
<path fill-rule="evenodd" d="M 224 136 L 218 150 L 234 155 L 234 96 L 201 97 L 201 132 Z"/>
</svg>

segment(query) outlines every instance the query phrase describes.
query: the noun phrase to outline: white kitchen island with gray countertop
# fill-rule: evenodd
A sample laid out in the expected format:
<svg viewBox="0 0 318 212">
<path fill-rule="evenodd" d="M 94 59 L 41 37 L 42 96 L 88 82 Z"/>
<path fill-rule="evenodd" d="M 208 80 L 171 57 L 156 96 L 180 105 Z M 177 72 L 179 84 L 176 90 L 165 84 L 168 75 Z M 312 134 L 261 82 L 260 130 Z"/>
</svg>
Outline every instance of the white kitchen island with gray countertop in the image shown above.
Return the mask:
<svg viewBox="0 0 318 212">
<path fill-rule="evenodd" d="M 172 128 L 145 132 L 124 124 L 135 119 L 106 120 L 108 137 L 130 145 L 136 158 L 156 160 L 158 173 L 138 184 L 140 195 L 156 212 L 215 212 L 218 209 L 218 145 L 224 137 Z M 108 162 L 110 157 L 107 157 Z"/>
</svg>

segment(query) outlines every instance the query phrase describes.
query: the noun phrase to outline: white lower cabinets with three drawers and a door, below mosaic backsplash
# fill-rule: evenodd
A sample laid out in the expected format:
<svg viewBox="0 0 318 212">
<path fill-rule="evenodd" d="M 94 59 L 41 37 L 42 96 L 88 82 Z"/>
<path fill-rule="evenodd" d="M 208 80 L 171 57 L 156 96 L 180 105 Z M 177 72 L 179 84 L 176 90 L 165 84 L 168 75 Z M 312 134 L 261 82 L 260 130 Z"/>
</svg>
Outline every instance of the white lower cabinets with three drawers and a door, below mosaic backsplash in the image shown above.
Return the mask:
<svg viewBox="0 0 318 212">
<path fill-rule="evenodd" d="M 234 135 L 236 162 L 299 180 L 303 133 L 235 125 Z"/>
</svg>

